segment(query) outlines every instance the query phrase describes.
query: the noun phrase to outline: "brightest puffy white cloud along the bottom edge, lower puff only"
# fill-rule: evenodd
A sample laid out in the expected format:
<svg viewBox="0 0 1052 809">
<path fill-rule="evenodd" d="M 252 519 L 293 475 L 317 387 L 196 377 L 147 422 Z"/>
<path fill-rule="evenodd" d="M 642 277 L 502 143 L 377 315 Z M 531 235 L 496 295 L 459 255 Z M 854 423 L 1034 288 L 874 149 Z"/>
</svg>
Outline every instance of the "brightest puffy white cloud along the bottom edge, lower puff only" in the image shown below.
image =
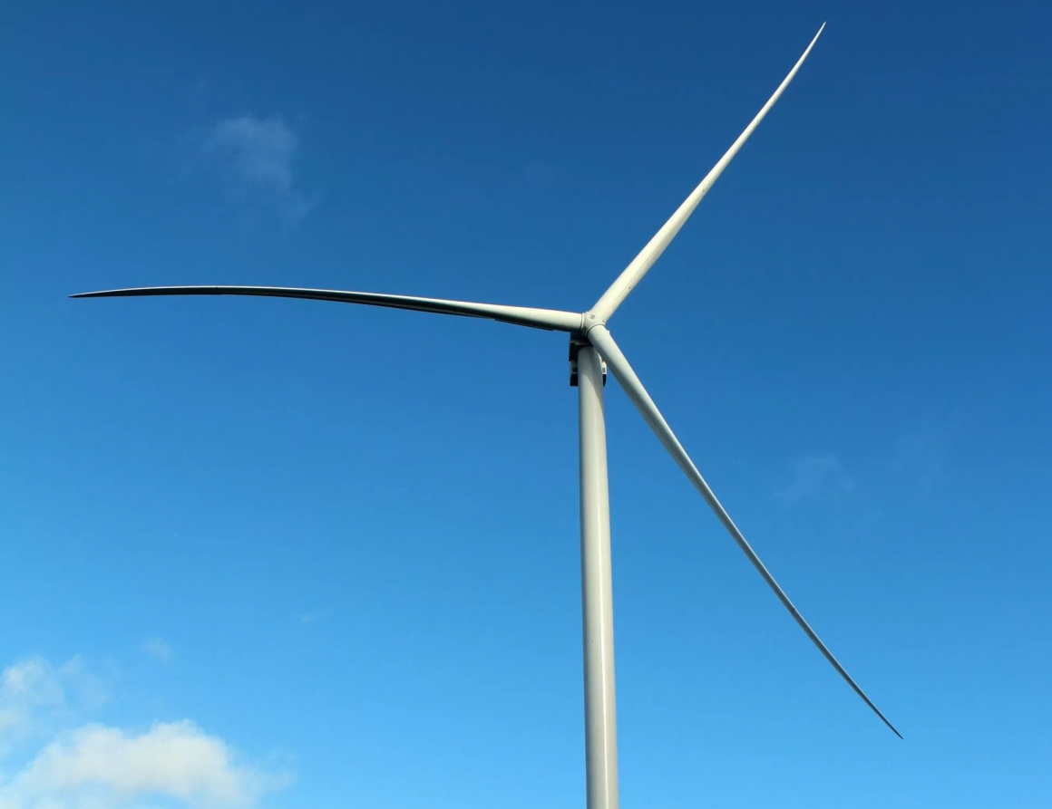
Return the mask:
<svg viewBox="0 0 1052 809">
<path fill-rule="evenodd" d="M 249 807 L 287 777 L 238 766 L 221 739 L 193 722 L 142 733 L 87 725 L 47 745 L 0 787 L 0 809 L 88 809 L 167 798 L 193 807 Z"/>
</svg>

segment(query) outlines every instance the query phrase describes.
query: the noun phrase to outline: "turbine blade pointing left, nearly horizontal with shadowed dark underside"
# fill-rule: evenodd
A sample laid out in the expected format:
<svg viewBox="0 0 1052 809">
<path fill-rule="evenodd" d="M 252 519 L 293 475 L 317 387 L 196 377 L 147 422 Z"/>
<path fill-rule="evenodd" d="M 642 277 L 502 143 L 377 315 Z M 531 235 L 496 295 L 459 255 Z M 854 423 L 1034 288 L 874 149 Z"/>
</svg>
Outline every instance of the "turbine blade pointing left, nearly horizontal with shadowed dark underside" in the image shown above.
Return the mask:
<svg viewBox="0 0 1052 809">
<path fill-rule="evenodd" d="M 418 312 L 454 314 L 463 317 L 485 317 L 517 326 L 529 326 L 548 331 L 576 332 L 581 315 L 555 309 L 531 309 L 499 304 L 472 304 L 465 300 L 443 300 L 433 297 L 385 295 L 378 292 L 347 292 L 336 289 L 296 289 L 290 287 L 141 287 L 110 289 L 102 292 L 81 292 L 69 297 L 124 297 L 138 295 L 266 295 L 301 297 L 310 300 L 336 300 L 341 304 L 364 304 L 389 309 L 412 309 Z"/>
</svg>

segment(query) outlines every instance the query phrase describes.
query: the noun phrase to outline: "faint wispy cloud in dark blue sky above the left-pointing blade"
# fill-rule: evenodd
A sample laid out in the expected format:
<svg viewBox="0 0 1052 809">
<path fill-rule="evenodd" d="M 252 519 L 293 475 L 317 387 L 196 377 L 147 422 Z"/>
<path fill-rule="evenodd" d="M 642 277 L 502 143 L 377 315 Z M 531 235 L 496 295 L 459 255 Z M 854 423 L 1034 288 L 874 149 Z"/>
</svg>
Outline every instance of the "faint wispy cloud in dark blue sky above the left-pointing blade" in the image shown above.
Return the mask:
<svg viewBox="0 0 1052 809">
<path fill-rule="evenodd" d="M 280 116 L 225 119 L 205 141 L 229 196 L 277 206 L 294 221 L 310 209 L 296 183 L 300 139 Z"/>
</svg>

